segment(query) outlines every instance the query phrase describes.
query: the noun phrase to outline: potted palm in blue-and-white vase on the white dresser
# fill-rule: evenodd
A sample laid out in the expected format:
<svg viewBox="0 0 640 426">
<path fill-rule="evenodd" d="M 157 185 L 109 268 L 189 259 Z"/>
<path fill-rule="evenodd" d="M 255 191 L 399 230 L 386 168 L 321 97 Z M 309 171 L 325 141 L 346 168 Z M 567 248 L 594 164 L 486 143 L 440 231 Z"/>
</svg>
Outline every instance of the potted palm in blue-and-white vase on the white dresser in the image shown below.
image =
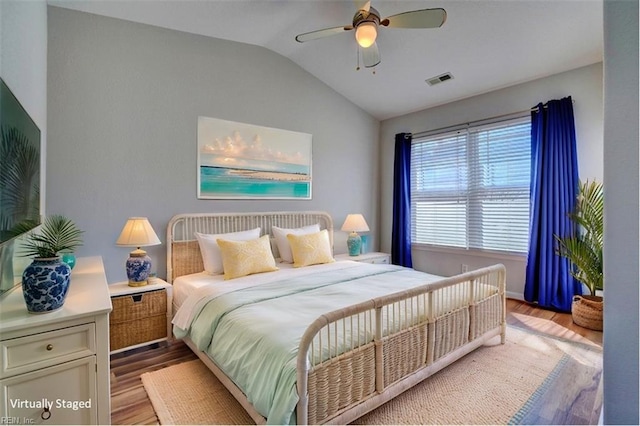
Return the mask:
<svg viewBox="0 0 640 426">
<path fill-rule="evenodd" d="M 30 224 L 19 224 L 30 229 Z M 62 252 L 73 252 L 82 245 L 82 232 L 70 219 L 61 215 L 47 217 L 38 233 L 29 231 L 21 254 L 34 256 L 22 273 L 22 293 L 30 313 L 47 313 L 64 304 L 69 290 L 71 268 L 60 259 Z"/>
</svg>

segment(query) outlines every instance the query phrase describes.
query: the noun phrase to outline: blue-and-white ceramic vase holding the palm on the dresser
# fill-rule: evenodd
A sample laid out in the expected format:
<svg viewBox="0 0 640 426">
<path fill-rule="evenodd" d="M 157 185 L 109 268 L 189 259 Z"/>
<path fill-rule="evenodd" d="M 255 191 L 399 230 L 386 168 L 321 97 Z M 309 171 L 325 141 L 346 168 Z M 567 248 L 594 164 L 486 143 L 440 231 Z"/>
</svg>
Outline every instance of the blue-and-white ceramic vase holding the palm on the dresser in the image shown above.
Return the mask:
<svg viewBox="0 0 640 426">
<path fill-rule="evenodd" d="M 70 278 L 71 268 L 59 257 L 33 259 L 22 273 L 22 294 L 29 313 L 44 314 L 62 308 Z"/>
</svg>

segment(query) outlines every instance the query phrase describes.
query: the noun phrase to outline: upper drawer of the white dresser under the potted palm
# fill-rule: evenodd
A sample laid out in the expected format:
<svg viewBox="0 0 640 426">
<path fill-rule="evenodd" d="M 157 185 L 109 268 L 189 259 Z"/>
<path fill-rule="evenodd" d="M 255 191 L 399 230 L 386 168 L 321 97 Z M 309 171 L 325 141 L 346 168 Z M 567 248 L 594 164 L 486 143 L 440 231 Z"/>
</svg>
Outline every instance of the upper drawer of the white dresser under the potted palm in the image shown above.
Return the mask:
<svg viewBox="0 0 640 426">
<path fill-rule="evenodd" d="M 0 342 L 0 378 L 96 353 L 95 323 L 32 334 Z"/>
</svg>

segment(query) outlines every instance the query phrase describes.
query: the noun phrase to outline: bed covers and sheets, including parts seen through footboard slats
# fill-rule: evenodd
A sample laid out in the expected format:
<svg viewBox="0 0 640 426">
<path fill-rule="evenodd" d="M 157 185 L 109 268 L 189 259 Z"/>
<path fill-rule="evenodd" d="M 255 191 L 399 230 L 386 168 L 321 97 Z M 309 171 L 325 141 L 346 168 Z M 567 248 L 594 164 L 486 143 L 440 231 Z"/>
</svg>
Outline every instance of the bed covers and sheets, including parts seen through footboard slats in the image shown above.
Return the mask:
<svg viewBox="0 0 640 426">
<path fill-rule="evenodd" d="M 258 413 L 268 423 L 277 424 L 295 420 L 297 350 L 300 336 L 313 320 L 327 310 L 442 278 L 393 265 L 354 261 L 304 268 L 281 266 L 277 272 L 233 280 L 206 274 L 177 279 L 174 285 L 184 300 L 172 321 L 178 338 L 192 339 L 247 395 Z M 390 336 L 429 315 L 468 306 L 474 287 L 476 295 L 497 292 L 494 286 L 472 286 L 467 281 L 434 289 L 429 298 L 403 299 L 382 310 L 381 335 Z M 190 289 L 188 295 L 185 288 Z M 371 322 L 374 316 L 373 310 L 359 313 L 319 333 L 311 346 L 318 349 L 311 349 L 308 355 L 310 365 L 372 341 L 378 324 Z M 256 375 L 261 379 L 256 380 Z"/>
</svg>

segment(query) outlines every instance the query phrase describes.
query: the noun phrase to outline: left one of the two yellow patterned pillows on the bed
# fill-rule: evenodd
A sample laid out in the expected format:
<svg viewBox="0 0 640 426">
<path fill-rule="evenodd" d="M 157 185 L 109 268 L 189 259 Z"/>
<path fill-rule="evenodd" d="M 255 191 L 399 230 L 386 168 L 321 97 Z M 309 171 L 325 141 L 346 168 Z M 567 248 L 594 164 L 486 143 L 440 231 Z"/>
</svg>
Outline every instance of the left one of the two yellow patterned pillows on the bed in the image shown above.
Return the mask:
<svg viewBox="0 0 640 426">
<path fill-rule="evenodd" d="M 231 280 L 260 272 L 277 271 L 268 235 L 256 240 L 218 240 L 224 279 Z"/>
</svg>

